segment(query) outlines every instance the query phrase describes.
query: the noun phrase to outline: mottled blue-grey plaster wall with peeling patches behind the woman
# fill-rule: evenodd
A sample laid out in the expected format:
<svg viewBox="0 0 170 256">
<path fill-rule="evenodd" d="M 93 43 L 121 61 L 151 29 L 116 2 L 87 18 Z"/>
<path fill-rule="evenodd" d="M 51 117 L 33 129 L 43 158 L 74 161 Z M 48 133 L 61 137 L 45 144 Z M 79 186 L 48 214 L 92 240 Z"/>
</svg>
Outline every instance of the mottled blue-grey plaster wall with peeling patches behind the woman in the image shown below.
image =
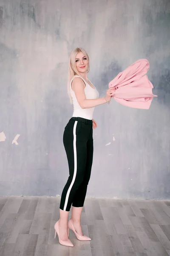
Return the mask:
<svg viewBox="0 0 170 256">
<path fill-rule="evenodd" d="M 87 50 L 100 96 L 139 58 L 158 95 L 149 110 L 95 108 L 87 196 L 170 199 L 169 0 L 0 0 L 0 195 L 61 195 L 75 47 Z"/>
</svg>

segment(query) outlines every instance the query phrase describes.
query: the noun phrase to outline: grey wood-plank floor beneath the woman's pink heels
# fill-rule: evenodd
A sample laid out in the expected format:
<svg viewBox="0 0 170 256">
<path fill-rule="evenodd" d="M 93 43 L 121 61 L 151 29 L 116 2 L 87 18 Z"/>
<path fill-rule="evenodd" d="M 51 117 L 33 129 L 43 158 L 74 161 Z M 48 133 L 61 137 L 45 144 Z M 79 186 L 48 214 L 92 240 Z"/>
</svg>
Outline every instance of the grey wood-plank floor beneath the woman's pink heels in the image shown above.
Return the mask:
<svg viewBox="0 0 170 256">
<path fill-rule="evenodd" d="M 54 240 L 60 198 L 0 198 L 0 256 L 170 256 L 170 201 L 86 198 L 79 241 Z M 71 217 L 71 211 L 69 212 Z"/>
</svg>

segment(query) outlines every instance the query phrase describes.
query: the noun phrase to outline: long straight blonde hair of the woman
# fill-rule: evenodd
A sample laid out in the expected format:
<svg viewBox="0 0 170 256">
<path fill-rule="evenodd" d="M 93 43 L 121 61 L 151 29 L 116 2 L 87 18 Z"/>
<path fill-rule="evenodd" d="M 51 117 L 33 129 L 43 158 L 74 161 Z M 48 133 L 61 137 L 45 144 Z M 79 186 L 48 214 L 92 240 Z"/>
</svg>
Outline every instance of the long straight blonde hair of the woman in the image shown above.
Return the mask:
<svg viewBox="0 0 170 256">
<path fill-rule="evenodd" d="M 74 49 L 71 54 L 70 54 L 70 57 L 69 57 L 69 62 L 68 62 L 68 84 L 67 84 L 67 92 L 68 92 L 68 96 L 70 98 L 70 103 L 73 104 L 73 100 L 72 100 L 72 97 L 71 97 L 71 94 L 70 94 L 70 82 L 71 82 L 71 79 L 78 75 L 78 76 L 81 76 L 80 73 L 78 72 L 77 70 L 77 67 L 76 67 L 76 55 L 77 53 L 79 52 L 82 52 L 85 57 L 87 58 L 88 60 L 88 70 L 87 72 L 89 72 L 90 70 L 90 66 L 89 66 L 89 57 L 88 57 L 88 54 L 87 52 L 82 49 L 82 48 L 76 48 Z"/>
</svg>

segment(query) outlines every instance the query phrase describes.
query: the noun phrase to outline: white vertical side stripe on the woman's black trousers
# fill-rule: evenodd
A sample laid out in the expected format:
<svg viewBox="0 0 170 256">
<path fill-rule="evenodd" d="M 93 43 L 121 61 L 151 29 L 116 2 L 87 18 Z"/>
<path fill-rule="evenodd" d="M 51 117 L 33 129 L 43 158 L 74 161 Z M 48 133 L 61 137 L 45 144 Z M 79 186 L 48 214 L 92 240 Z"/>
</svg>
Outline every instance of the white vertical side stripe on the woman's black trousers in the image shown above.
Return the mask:
<svg viewBox="0 0 170 256">
<path fill-rule="evenodd" d="M 68 188 L 66 197 L 65 197 L 65 204 L 64 204 L 64 211 L 66 210 L 67 204 L 68 204 L 68 198 L 70 195 L 71 188 L 74 184 L 74 181 L 76 179 L 76 174 L 77 174 L 77 148 L 76 148 L 76 127 L 77 127 L 77 121 L 74 123 L 74 128 L 73 128 L 73 148 L 74 148 L 74 175 L 73 175 L 73 180 L 71 181 L 71 184 Z"/>
</svg>

